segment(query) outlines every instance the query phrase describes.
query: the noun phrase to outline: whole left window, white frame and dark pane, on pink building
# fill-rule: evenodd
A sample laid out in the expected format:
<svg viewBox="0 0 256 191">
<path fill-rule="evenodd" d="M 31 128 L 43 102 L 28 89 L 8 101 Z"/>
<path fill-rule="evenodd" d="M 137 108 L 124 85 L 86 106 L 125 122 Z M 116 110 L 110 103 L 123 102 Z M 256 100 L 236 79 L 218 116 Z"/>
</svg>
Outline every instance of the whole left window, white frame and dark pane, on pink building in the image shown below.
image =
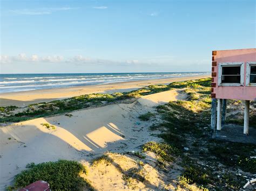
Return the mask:
<svg viewBox="0 0 256 191">
<path fill-rule="evenodd" d="M 219 86 L 243 86 L 244 62 L 225 62 L 218 65 Z"/>
</svg>

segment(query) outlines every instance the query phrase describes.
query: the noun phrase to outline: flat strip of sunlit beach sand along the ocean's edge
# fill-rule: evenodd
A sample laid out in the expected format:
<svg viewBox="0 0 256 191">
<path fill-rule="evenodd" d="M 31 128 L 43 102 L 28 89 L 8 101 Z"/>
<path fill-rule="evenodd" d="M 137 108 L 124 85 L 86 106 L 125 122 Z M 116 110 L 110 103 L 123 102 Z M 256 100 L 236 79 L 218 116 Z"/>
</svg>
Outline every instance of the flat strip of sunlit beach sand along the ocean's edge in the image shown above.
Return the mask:
<svg viewBox="0 0 256 191">
<path fill-rule="evenodd" d="M 52 88 L 30 91 L 19 91 L 16 93 L 3 93 L 0 94 L 0 107 L 15 105 L 17 107 L 25 107 L 26 105 L 41 102 L 50 102 L 54 100 L 61 100 L 73 96 L 92 94 L 92 93 L 105 93 L 112 94 L 115 92 L 132 91 L 138 88 L 153 84 L 169 84 L 171 82 L 179 82 L 185 80 L 196 80 L 210 75 L 186 76 L 186 77 L 169 77 L 166 79 L 153 79 L 153 80 L 137 80 L 126 82 L 114 82 L 107 84 L 78 86 L 69 88 Z"/>
</svg>

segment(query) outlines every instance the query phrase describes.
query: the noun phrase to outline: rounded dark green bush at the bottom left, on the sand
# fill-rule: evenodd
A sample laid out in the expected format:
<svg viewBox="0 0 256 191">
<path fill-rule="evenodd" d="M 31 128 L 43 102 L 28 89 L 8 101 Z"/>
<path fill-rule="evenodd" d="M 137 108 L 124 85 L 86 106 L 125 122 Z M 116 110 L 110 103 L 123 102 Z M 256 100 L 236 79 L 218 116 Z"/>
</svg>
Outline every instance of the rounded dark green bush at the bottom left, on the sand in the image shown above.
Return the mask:
<svg viewBox="0 0 256 191">
<path fill-rule="evenodd" d="M 38 165 L 31 162 L 27 167 L 28 170 L 16 175 L 14 189 L 37 180 L 48 182 L 51 190 L 80 190 L 84 186 L 91 188 L 90 183 L 81 176 L 87 174 L 85 166 L 76 161 L 58 160 Z"/>
</svg>

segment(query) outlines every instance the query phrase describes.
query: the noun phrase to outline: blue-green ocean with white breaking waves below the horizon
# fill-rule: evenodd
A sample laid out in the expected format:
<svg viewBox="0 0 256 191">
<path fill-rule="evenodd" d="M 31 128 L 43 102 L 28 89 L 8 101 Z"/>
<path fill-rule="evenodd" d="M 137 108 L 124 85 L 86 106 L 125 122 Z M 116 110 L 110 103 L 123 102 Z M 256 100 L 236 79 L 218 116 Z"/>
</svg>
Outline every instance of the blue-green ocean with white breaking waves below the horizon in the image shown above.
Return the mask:
<svg viewBox="0 0 256 191">
<path fill-rule="evenodd" d="M 210 74 L 209 72 L 95 73 L 95 74 L 0 74 L 0 93 L 87 86 L 113 82 L 164 79 Z"/>
</svg>

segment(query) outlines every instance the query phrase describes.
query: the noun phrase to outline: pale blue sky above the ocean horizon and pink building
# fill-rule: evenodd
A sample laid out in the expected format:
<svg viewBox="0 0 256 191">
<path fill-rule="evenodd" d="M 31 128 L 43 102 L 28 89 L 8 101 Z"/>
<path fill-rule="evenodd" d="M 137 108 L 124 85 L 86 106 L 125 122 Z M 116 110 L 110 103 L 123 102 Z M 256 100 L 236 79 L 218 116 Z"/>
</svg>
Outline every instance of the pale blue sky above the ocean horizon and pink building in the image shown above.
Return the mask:
<svg viewBox="0 0 256 191">
<path fill-rule="evenodd" d="M 1 73 L 196 72 L 254 48 L 255 1 L 1 0 Z"/>
</svg>

